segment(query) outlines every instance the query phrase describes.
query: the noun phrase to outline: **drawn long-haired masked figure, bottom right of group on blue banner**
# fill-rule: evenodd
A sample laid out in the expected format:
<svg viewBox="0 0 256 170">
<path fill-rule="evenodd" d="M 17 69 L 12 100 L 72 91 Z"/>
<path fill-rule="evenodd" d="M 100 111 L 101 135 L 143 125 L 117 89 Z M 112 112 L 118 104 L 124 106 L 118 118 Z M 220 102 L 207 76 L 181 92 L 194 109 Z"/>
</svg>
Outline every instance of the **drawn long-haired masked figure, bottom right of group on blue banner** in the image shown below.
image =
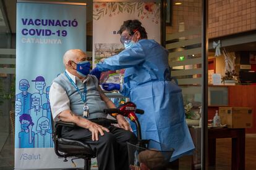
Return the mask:
<svg viewBox="0 0 256 170">
<path fill-rule="evenodd" d="M 38 148 L 49 148 L 53 147 L 53 140 L 51 137 L 51 133 L 49 133 L 49 129 L 51 129 L 50 122 L 48 118 L 45 116 L 38 119 L 36 124 L 35 134 L 35 147 Z"/>
</svg>

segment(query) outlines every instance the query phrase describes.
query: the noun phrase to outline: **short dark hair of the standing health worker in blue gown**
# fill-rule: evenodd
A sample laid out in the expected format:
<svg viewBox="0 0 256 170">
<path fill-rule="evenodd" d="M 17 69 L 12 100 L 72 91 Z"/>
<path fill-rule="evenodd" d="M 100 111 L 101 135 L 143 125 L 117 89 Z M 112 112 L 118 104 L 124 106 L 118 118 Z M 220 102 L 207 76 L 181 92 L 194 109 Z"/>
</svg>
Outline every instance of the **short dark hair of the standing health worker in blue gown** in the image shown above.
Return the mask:
<svg viewBox="0 0 256 170">
<path fill-rule="evenodd" d="M 136 31 L 140 32 L 140 36 L 142 39 L 147 39 L 147 32 L 145 28 L 142 26 L 142 23 L 139 20 L 126 20 L 121 25 L 119 33 L 122 34 L 122 31 L 127 30 L 130 34 L 134 34 Z"/>
</svg>

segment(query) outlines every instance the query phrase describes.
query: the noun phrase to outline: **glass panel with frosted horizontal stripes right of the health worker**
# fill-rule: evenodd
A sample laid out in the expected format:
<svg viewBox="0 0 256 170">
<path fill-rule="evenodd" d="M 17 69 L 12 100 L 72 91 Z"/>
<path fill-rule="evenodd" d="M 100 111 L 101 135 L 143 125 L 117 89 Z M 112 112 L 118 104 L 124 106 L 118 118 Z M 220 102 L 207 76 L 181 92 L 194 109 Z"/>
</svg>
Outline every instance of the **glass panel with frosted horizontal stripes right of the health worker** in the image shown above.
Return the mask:
<svg viewBox="0 0 256 170">
<path fill-rule="evenodd" d="M 204 169 L 207 144 L 206 1 L 163 1 L 162 44 L 169 51 L 171 76 L 182 89 L 186 122 L 195 145 L 191 156 L 179 158 L 176 169 Z M 202 45 L 203 44 L 203 45 Z M 207 99 L 207 98 L 206 98 Z M 207 129 L 206 129 L 207 130 Z"/>
</svg>

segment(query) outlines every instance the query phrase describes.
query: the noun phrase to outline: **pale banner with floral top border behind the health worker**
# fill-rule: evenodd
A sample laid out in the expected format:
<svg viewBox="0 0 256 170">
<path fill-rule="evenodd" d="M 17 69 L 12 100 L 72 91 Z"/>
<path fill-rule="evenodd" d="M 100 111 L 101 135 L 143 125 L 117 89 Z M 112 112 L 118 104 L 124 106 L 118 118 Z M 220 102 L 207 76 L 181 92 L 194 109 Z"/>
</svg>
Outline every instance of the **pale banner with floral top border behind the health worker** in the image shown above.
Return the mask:
<svg viewBox="0 0 256 170">
<path fill-rule="evenodd" d="M 119 28 L 125 20 L 137 19 L 148 33 L 148 39 L 160 43 L 159 2 L 93 2 L 93 67 L 101 59 L 124 49 Z M 122 83 L 124 70 L 101 74 L 100 83 Z"/>
</svg>

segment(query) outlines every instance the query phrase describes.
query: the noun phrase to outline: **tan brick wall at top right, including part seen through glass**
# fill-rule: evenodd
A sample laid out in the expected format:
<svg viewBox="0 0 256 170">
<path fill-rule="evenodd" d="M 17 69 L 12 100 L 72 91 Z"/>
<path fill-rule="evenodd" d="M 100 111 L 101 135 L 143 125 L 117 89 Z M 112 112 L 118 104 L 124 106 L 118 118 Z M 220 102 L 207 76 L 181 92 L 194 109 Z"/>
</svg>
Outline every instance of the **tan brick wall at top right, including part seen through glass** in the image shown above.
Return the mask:
<svg viewBox="0 0 256 170">
<path fill-rule="evenodd" d="M 175 2 L 175 1 L 174 1 Z M 201 24 L 201 1 L 184 0 L 173 4 L 173 24 L 166 26 L 166 33 L 177 33 L 179 25 L 189 30 Z M 209 0 L 209 38 L 256 30 L 255 0 Z"/>
</svg>

